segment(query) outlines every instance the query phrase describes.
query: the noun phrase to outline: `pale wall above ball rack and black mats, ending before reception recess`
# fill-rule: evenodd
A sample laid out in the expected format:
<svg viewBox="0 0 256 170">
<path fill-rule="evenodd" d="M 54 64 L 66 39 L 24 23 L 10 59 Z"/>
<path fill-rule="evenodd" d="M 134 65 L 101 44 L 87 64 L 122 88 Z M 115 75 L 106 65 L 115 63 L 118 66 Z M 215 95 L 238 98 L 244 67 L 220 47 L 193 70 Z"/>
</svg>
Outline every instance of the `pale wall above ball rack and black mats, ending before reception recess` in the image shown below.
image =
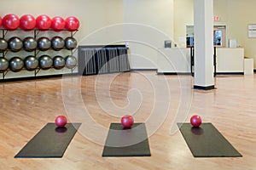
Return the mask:
<svg viewBox="0 0 256 170">
<path fill-rule="evenodd" d="M 130 42 L 133 69 L 156 69 L 156 48 L 173 37 L 173 0 L 4 1 L 0 15 L 9 13 L 76 16 L 81 24 L 75 35 L 79 45 L 134 41 Z"/>
</svg>

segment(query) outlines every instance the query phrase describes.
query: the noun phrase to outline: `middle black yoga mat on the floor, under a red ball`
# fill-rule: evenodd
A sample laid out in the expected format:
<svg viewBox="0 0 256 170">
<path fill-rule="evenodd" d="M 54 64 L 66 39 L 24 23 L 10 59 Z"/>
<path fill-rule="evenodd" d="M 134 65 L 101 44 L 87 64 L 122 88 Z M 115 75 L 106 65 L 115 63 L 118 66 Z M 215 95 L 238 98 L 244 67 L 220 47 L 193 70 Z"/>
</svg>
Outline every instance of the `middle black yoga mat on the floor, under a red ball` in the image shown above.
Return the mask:
<svg viewBox="0 0 256 170">
<path fill-rule="evenodd" d="M 151 156 L 145 124 L 124 128 L 121 123 L 111 123 L 102 156 Z"/>
</svg>

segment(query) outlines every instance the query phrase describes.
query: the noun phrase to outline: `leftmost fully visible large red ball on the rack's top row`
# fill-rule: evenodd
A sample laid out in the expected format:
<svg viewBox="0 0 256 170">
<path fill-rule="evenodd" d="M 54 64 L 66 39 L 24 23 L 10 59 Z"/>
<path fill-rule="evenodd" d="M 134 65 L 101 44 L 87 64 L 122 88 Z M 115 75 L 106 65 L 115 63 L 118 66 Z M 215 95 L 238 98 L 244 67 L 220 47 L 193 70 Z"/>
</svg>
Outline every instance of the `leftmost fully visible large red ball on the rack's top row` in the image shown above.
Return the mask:
<svg viewBox="0 0 256 170">
<path fill-rule="evenodd" d="M 20 26 L 20 19 L 15 14 L 6 14 L 3 17 L 3 28 L 7 30 L 16 30 Z"/>
</svg>

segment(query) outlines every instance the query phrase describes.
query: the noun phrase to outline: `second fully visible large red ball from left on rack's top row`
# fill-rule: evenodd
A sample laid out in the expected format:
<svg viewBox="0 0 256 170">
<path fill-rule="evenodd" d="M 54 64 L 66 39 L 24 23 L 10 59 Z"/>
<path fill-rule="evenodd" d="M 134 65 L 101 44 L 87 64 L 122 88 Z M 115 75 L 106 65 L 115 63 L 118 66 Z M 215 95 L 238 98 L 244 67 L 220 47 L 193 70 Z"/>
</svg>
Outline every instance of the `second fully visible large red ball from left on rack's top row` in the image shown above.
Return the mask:
<svg viewBox="0 0 256 170">
<path fill-rule="evenodd" d="M 25 31 L 31 31 L 37 25 L 36 19 L 31 14 L 24 14 L 20 17 L 20 28 Z"/>
</svg>

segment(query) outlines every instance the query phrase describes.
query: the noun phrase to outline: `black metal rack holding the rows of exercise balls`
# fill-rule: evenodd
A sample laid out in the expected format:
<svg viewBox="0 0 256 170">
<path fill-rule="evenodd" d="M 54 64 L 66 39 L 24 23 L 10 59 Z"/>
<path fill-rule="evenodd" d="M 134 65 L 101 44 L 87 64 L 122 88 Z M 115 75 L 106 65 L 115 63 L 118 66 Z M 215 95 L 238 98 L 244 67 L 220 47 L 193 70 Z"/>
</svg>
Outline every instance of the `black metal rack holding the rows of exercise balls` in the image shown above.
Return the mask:
<svg viewBox="0 0 256 170">
<path fill-rule="evenodd" d="M 22 36 L 24 37 L 24 35 L 25 35 L 26 37 L 34 37 L 36 39 L 38 37 L 46 37 L 46 36 L 40 36 L 39 35 L 40 32 L 43 32 L 44 34 L 46 34 L 47 32 L 50 32 L 51 36 L 50 35 L 48 36 L 49 39 L 51 39 L 52 37 L 55 37 L 55 36 L 62 37 L 63 39 L 65 39 L 66 37 L 73 37 L 77 33 L 77 31 L 79 31 L 79 30 L 75 30 L 75 31 L 68 31 L 68 30 L 54 31 L 52 29 L 49 29 L 47 31 L 40 31 L 38 29 L 33 29 L 31 31 L 23 31 L 21 29 L 17 29 L 15 31 L 9 31 L 9 30 L 1 28 L 0 31 L 2 31 L 2 38 L 3 39 L 5 39 L 7 37 L 10 38 L 9 32 L 12 32 L 12 35 L 15 35 L 15 34 L 17 35 L 17 36 L 14 36 L 14 37 L 22 37 Z M 66 33 L 64 34 L 64 32 L 66 32 Z M 68 32 L 70 32 L 70 35 L 68 35 Z M 65 37 L 63 35 L 65 35 Z M 34 56 L 38 59 L 40 57 L 39 54 L 42 54 L 42 55 L 47 54 L 47 55 L 50 55 L 51 59 L 53 59 L 54 56 L 56 56 L 56 55 L 60 55 L 64 59 L 65 57 L 67 57 L 69 55 L 74 56 L 74 54 L 76 52 L 77 52 L 77 48 L 73 48 L 73 49 L 61 48 L 61 50 L 55 50 L 51 47 L 51 48 L 47 49 L 46 51 L 39 50 L 39 48 L 35 48 L 32 51 L 26 51 L 25 48 L 22 47 L 20 49 L 20 51 L 18 51 L 18 52 L 11 51 L 8 48 L 8 49 L 4 50 L 3 52 L 0 52 L 0 54 L 1 54 L 0 58 L 6 58 L 6 59 L 10 60 L 13 57 L 17 56 L 17 57 L 20 57 L 20 59 L 22 59 L 24 61 L 24 59 L 28 55 L 32 55 L 32 56 Z M 18 71 L 18 72 L 12 71 L 9 67 L 5 71 L 0 71 L 0 82 L 16 81 L 16 80 L 20 80 L 20 79 L 37 79 L 37 78 L 40 78 L 40 77 L 55 77 L 55 76 L 59 77 L 59 76 L 64 75 L 64 74 L 65 75 L 67 75 L 67 74 L 68 75 L 69 74 L 71 74 L 71 75 L 77 74 L 77 72 L 78 72 L 78 59 L 77 58 L 78 57 L 75 56 L 75 58 L 76 58 L 76 64 L 73 66 L 73 68 L 69 68 L 69 69 L 66 67 L 67 63 L 65 63 L 65 66 L 62 69 L 55 69 L 54 66 L 51 66 L 47 70 L 41 69 L 41 67 L 38 64 L 38 67 L 34 71 L 26 70 L 26 68 L 24 66 L 25 63 L 23 65 L 22 70 Z M 39 74 L 39 72 L 41 72 L 41 73 Z"/>
</svg>

